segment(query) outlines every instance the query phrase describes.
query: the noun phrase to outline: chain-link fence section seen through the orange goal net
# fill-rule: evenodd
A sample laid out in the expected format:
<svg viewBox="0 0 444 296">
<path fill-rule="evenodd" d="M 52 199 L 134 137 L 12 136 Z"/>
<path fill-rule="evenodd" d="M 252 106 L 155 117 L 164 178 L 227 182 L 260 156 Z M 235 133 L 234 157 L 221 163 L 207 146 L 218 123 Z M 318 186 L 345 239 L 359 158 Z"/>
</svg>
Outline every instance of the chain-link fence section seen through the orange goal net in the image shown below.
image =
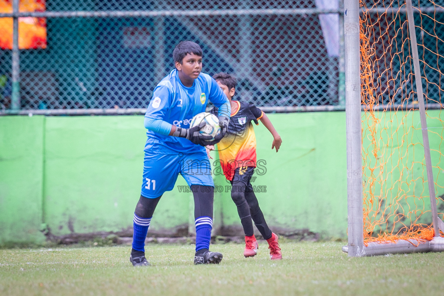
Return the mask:
<svg viewBox="0 0 444 296">
<path fill-rule="evenodd" d="M 361 77 L 365 70 L 372 76 L 366 81 L 372 85 L 367 95 L 377 98 L 381 106 L 395 108 L 408 99 L 416 100 L 416 95 L 409 95 L 416 92 L 416 84 L 405 1 L 365 0 L 361 4 L 361 47 L 369 46 L 371 55 L 371 69 L 361 67 Z M 428 109 L 439 109 L 444 103 L 444 1 L 413 0 L 413 4 L 425 103 Z"/>
</svg>

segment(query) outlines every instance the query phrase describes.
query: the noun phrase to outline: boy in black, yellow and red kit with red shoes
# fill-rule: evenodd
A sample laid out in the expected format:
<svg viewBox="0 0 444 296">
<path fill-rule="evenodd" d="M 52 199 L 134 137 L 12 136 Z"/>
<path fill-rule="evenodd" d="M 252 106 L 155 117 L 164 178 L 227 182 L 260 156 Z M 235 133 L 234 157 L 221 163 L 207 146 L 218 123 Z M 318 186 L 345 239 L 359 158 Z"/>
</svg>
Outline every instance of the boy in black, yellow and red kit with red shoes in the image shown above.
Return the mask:
<svg viewBox="0 0 444 296">
<path fill-rule="evenodd" d="M 270 258 L 272 260 L 282 259 L 277 235 L 272 233 L 268 227 L 250 183 L 256 167 L 256 136 L 251 121 L 258 125 L 258 120 L 260 120 L 270 131 L 273 135 L 271 149 L 276 148 L 276 152 L 281 146 L 281 137 L 274 129 L 270 119 L 258 107 L 251 103 L 232 100 L 237 84 L 235 77 L 226 73 L 217 73 L 213 75 L 213 78 L 231 104 L 230 124 L 225 137 L 218 143 L 218 152 L 223 173 L 231 182 L 231 198 L 238 208 L 244 229 L 244 256 L 253 257 L 258 251 L 258 241 L 254 237 L 253 223 L 251 222 L 253 219 L 254 225 L 269 244 Z M 210 112 L 217 114 L 215 108 Z M 207 146 L 207 148 L 211 150 L 214 149 L 214 146 Z"/>
</svg>

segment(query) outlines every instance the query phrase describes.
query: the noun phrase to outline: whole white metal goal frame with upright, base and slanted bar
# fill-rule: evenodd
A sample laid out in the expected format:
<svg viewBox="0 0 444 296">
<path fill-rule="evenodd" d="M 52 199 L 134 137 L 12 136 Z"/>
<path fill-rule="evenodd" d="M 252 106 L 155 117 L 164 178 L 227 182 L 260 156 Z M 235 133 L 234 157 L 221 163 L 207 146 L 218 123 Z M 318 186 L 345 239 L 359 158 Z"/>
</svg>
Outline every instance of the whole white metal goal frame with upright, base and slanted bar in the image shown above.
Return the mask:
<svg viewBox="0 0 444 296">
<path fill-rule="evenodd" d="M 361 75 L 360 75 L 360 28 L 359 0 L 344 0 L 345 38 L 345 116 L 347 141 L 347 200 L 348 245 L 342 250 L 349 257 L 383 255 L 388 253 L 442 252 L 444 224 L 437 215 L 432 163 L 428 143 L 428 130 L 424 109 L 424 97 L 416 33 L 412 12 L 412 0 L 405 0 L 408 29 L 411 42 L 417 100 L 420 107 L 421 130 L 424 144 L 428 189 L 435 237 L 431 241 L 399 240 L 397 242 L 369 242 L 364 245 L 363 194 L 362 194 L 362 135 L 361 135 Z"/>
</svg>

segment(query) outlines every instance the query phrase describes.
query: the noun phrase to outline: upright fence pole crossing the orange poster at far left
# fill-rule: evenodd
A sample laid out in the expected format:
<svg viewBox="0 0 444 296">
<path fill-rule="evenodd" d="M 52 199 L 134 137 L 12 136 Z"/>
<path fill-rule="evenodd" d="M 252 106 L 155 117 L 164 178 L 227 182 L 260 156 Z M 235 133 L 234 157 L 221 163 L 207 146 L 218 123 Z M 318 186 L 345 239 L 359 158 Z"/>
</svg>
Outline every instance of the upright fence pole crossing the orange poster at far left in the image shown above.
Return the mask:
<svg viewBox="0 0 444 296">
<path fill-rule="evenodd" d="M 19 12 L 19 0 L 12 0 L 12 12 Z M 12 94 L 11 109 L 20 109 L 19 18 L 12 18 Z"/>
</svg>

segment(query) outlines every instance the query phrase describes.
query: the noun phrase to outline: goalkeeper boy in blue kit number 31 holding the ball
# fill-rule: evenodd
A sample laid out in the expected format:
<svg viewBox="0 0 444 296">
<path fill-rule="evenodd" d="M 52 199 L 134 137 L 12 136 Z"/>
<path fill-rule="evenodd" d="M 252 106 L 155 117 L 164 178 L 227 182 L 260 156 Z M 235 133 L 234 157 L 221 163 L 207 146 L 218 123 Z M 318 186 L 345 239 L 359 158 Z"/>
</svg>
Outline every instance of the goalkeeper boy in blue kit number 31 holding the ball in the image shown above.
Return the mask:
<svg viewBox="0 0 444 296">
<path fill-rule="evenodd" d="M 157 203 L 165 191 L 174 188 L 178 174 L 194 195 L 196 253 L 194 264 L 218 264 L 222 254 L 210 252 L 213 225 L 214 183 L 204 146 L 219 142 L 230 122 L 230 102 L 216 81 L 202 71 L 202 49 L 182 41 L 174 48 L 175 69 L 155 87 L 145 114 L 147 142 L 143 162 L 143 183 L 136 205 L 130 261 L 134 266 L 150 265 L 145 258 L 145 238 Z M 208 101 L 219 109 L 221 133 L 214 137 L 190 128 L 194 115 L 204 112 Z"/>
</svg>

